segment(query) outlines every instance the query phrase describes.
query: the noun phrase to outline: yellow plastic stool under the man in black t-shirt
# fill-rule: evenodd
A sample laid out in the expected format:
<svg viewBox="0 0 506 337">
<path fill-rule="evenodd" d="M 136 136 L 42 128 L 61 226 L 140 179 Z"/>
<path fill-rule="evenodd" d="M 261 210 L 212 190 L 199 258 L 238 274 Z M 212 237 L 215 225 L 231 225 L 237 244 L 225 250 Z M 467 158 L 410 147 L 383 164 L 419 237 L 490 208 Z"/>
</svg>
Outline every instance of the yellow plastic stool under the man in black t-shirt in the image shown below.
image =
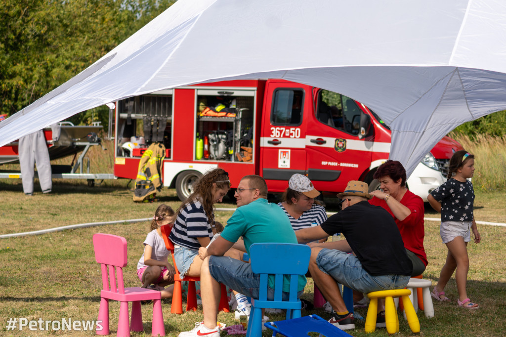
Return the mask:
<svg viewBox="0 0 506 337">
<path fill-rule="evenodd" d="M 404 305 L 404 312 L 408 321 L 409 328 L 413 332 L 420 332 L 420 322 L 413 308 L 413 304 L 409 300 L 411 290 L 408 289 L 394 289 L 394 290 L 381 290 L 373 291 L 367 294 L 371 300 L 369 302 L 369 309 L 365 318 L 365 332 L 373 332 L 376 329 L 376 315 L 378 307 L 378 298 L 385 298 L 385 322 L 387 323 L 388 333 L 399 332 L 399 317 L 397 317 L 397 310 L 394 303 L 394 298 L 401 298 Z"/>
</svg>

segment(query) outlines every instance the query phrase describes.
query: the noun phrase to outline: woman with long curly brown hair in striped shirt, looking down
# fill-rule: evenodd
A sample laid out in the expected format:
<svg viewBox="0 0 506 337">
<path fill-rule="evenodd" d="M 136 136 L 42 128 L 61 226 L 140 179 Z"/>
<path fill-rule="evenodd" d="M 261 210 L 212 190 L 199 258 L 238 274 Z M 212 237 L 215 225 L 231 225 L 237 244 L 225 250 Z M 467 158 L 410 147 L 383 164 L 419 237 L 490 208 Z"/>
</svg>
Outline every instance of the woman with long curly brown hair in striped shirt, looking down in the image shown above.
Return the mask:
<svg viewBox="0 0 506 337">
<path fill-rule="evenodd" d="M 221 202 L 229 189 L 228 173 L 215 168 L 193 184 L 193 193 L 176 211 L 169 238 L 179 246 L 174 249 L 174 258 L 181 277 L 200 276 L 202 260 L 198 248 L 207 246 L 213 238 L 214 204 Z"/>
</svg>

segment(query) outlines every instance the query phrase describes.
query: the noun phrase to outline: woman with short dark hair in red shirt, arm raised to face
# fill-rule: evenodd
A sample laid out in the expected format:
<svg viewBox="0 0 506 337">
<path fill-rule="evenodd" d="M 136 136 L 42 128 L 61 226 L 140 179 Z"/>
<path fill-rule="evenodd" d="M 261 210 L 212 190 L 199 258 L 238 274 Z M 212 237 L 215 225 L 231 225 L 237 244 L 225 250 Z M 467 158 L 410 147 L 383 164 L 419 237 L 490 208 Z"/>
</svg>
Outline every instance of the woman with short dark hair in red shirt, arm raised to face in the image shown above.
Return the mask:
<svg viewBox="0 0 506 337">
<path fill-rule="evenodd" d="M 404 247 L 413 263 L 411 276 L 421 275 L 427 267 L 424 249 L 424 200 L 406 188 L 406 170 L 397 160 L 387 160 L 378 167 L 374 179 L 381 190 L 372 191 L 370 204 L 385 208 L 401 232 Z"/>
</svg>

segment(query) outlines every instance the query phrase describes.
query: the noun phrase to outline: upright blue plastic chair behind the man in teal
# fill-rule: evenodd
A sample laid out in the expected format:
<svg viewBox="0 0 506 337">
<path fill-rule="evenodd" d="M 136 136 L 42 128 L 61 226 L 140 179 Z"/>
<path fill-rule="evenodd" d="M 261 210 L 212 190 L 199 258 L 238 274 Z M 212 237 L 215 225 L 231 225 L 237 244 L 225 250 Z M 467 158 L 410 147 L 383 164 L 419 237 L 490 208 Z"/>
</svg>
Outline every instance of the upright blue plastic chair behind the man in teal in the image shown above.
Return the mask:
<svg viewBox="0 0 506 337">
<path fill-rule="evenodd" d="M 286 309 L 286 319 L 301 317 L 301 301 L 297 297 L 300 275 L 308 272 L 311 248 L 296 243 L 255 243 L 249 247 L 251 269 L 260 274 L 259 299 L 251 299 L 246 337 L 262 336 L 262 308 Z M 274 299 L 267 299 L 267 277 L 275 275 Z M 290 277 L 289 299 L 282 301 L 283 276 Z"/>
</svg>

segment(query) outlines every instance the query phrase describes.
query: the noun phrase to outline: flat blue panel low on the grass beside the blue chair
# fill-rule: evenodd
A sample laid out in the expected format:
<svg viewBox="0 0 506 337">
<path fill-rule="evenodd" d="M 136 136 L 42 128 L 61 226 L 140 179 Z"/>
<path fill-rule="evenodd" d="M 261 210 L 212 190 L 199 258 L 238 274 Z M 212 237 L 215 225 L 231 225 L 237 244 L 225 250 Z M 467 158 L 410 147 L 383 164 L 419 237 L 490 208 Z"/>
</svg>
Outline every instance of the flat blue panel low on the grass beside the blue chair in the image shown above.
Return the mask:
<svg viewBox="0 0 506 337">
<path fill-rule="evenodd" d="M 273 337 L 281 333 L 286 337 L 307 337 L 309 332 L 317 332 L 320 337 L 351 336 L 340 328 L 333 326 L 318 315 L 309 315 L 294 319 L 264 323 L 272 330 Z"/>
</svg>

